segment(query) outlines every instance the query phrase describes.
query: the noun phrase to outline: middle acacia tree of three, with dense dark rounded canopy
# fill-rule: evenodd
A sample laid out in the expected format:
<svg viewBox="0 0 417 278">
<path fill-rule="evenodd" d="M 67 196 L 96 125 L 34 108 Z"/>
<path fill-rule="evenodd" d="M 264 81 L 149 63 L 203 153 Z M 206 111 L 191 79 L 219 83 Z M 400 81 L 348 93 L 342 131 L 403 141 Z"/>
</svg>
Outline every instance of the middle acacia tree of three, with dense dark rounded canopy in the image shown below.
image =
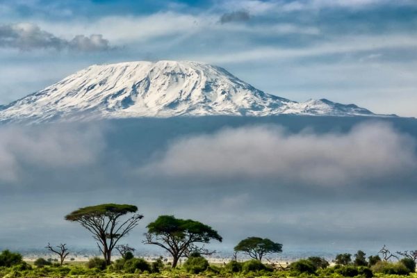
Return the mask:
<svg viewBox="0 0 417 278">
<path fill-rule="evenodd" d="M 172 256 L 172 268 L 177 266 L 181 256 L 190 252 L 206 252 L 195 243 L 210 243 L 210 240 L 222 242 L 222 237 L 210 226 L 195 220 L 174 218 L 173 215 L 161 215 L 147 225 L 145 244 L 152 244 L 167 250 Z"/>
</svg>

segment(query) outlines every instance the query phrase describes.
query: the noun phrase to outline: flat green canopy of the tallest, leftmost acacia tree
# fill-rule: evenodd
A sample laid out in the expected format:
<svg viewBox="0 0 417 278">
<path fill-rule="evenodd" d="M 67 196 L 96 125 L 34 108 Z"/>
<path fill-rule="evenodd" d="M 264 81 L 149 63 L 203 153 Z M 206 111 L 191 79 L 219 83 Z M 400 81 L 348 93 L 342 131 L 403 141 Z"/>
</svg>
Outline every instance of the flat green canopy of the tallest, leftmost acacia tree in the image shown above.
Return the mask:
<svg viewBox="0 0 417 278">
<path fill-rule="evenodd" d="M 79 221 L 84 217 L 124 215 L 126 213 L 136 213 L 137 206 L 131 204 L 99 204 L 97 206 L 85 206 L 65 216 L 65 220 Z"/>
</svg>

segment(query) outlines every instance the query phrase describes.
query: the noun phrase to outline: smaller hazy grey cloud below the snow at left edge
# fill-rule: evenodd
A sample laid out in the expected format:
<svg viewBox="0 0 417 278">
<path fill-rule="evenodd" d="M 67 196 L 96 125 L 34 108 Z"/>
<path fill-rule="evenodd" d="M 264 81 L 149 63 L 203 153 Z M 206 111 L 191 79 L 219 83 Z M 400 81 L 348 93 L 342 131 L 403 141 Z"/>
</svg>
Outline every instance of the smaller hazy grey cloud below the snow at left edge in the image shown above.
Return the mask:
<svg viewBox="0 0 417 278">
<path fill-rule="evenodd" d="M 101 131 L 79 126 L 0 126 L 0 181 L 19 181 L 29 167 L 56 169 L 95 163 L 104 147 Z"/>
</svg>

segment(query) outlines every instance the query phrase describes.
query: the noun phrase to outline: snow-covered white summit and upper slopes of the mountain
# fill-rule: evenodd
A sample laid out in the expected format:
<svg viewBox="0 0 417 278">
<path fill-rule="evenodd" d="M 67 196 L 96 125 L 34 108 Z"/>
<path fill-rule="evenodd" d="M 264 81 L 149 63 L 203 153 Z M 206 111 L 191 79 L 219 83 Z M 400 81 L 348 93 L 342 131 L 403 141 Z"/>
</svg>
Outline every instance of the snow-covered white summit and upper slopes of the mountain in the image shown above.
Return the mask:
<svg viewBox="0 0 417 278">
<path fill-rule="evenodd" d="M 221 67 L 167 60 L 92 65 L 0 106 L 0 122 L 278 114 L 375 116 L 327 99 L 291 101 L 266 94 Z"/>
</svg>

